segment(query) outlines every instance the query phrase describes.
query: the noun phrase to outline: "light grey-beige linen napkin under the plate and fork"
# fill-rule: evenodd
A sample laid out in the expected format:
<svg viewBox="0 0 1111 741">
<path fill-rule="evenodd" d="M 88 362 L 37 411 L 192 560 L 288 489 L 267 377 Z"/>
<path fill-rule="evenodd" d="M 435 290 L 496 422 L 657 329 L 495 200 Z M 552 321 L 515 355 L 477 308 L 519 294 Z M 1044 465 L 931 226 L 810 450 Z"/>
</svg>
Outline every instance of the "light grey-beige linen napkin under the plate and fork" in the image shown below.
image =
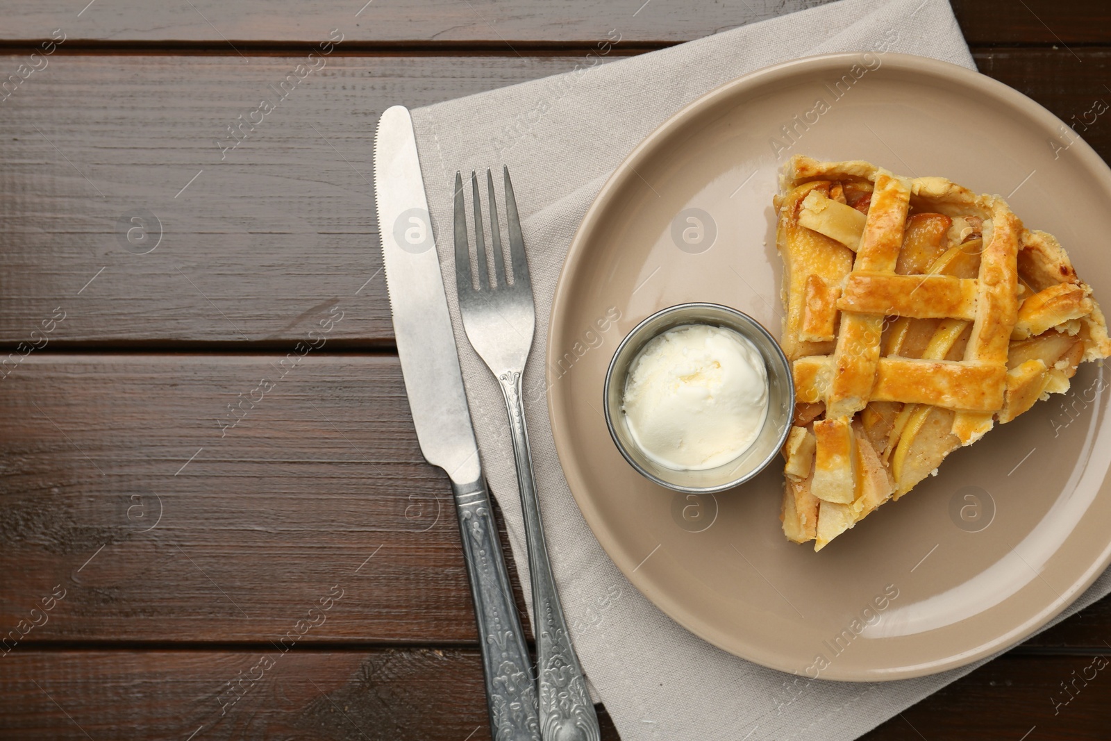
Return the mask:
<svg viewBox="0 0 1111 741">
<path fill-rule="evenodd" d="M 605 43 L 619 37 L 620 29 L 610 31 L 600 38 L 599 50 L 608 51 Z M 587 57 L 561 76 L 414 110 L 442 264 L 450 267 L 454 259 L 456 171 L 506 163 L 516 176 L 537 303 L 524 388 L 544 388 L 552 296 L 579 222 L 641 139 L 687 103 L 747 72 L 810 54 L 874 51 L 880 44 L 974 69 L 945 0 L 842 0 L 621 61 L 598 63 L 597 54 Z M 443 277 L 486 473 L 530 599 L 501 392 L 464 339 L 453 271 Z M 591 687 L 625 741 L 854 739 L 974 668 L 882 683 L 802 681 L 694 637 L 638 592 L 602 550 L 563 478 L 547 401 L 542 393 L 527 391 L 526 397 L 563 609 Z M 1104 574 L 1065 614 L 1109 591 L 1111 578 Z"/>
</svg>

